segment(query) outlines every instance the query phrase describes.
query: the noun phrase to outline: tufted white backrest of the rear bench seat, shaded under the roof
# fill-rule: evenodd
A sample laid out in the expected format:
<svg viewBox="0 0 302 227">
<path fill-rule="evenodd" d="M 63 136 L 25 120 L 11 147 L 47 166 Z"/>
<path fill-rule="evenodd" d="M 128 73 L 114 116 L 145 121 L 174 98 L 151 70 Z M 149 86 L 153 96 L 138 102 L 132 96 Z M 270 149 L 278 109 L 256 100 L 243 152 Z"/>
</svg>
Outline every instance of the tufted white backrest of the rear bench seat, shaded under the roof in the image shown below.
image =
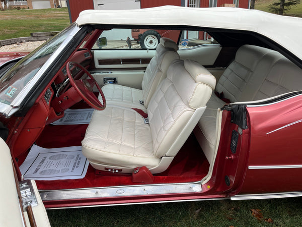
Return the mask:
<svg viewBox="0 0 302 227">
<path fill-rule="evenodd" d="M 216 91 L 237 101 L 253 101 L 300 90 L 302 70 L 281 53 L 243 45 L 220 77 Z"/>
</svg>

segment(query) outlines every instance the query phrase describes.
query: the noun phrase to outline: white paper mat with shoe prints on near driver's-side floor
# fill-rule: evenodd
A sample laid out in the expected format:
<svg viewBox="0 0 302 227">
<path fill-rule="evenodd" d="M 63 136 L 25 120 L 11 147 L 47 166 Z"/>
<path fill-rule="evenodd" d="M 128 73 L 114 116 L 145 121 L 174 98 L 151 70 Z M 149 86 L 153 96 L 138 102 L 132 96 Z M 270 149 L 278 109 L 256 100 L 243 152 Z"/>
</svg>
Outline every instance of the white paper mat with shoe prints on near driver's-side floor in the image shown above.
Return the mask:
<svg viewBox="0 0 302 227">
<path fill-rule="evenodd" d="M 87 173 L 88 165 L 81 146 L 46 149 L 33 145 L 20 166 L 20 171 L 24 179 L 82 179 Z"/>
</svg>

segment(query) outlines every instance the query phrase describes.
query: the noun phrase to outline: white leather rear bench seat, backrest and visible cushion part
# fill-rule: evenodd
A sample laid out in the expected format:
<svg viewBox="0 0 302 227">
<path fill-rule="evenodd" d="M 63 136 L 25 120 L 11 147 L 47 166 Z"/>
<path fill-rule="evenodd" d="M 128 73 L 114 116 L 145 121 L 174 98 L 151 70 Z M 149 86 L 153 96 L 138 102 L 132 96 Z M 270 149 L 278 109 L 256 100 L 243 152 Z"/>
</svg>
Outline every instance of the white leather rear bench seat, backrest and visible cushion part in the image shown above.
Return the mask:
<svg viewBox="0 0 302 227">
<path fill-rule="evenodd" d="M 220 77 L 216 91 L 231 102 L 253 101 L 301 90 L 302 70 L 279 52 L 243 45 L 235 61 Z M 208 161 L 213 162 L 217 141 L 217 109 L 225 104 L 213 92 L 207 109 L 194 129 L 195 136 Z"/>
</svg>

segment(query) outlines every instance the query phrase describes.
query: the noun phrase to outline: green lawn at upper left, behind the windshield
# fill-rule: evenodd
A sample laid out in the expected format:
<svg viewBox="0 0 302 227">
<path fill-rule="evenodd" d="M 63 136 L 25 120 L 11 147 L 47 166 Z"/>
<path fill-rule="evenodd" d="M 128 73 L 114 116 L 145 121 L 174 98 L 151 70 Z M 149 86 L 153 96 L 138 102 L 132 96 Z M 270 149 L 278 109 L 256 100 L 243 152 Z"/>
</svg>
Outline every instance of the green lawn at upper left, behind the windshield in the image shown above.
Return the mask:
<svg viewBox="0 0 302 227">
<path fill-rule="evenodd" d="M 61 31 L 70 24 L 68 9 L 0 11 L 0 40 L 32 32 Z"/>
</svg>

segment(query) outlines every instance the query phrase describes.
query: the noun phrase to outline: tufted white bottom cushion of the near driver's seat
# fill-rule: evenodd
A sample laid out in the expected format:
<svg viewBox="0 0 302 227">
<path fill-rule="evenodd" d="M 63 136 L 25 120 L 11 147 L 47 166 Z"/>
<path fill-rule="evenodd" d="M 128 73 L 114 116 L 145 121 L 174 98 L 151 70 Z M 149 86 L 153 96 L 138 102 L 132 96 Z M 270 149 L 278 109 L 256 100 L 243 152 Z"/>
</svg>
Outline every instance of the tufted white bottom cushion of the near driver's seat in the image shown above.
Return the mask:
<svg viewBox="0 0 302 227">
<path fill-rule="evenodd" d="M 132 168 L 137 163 L 148 168 L 159 164 L 160 159 L 153 152 L 150 127 L 135 110 L 107 106 L 103 111 L 94 111 L 92 119 L 83 141 L 86 145 L 83 154 L 91 163 L 102 160 L 103 164 Z"/>
</svg>

